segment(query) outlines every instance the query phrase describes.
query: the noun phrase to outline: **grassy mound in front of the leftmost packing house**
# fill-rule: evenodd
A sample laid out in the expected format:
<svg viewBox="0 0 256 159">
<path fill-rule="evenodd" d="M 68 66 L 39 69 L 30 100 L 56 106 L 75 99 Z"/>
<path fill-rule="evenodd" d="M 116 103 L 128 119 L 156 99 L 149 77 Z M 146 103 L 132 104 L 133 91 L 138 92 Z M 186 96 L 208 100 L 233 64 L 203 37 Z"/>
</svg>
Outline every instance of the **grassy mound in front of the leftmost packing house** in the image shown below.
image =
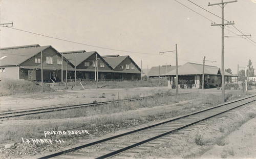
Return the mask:
<svg viewBox="0 0 256 159">
<path fill-rule="evenodd" d="M 49 86 L 44 85 L 45 92 L 53 92 Z M 9 96 L 14 94 L 28 94 L 41 92 L 41 86 L 32 81 L 3 79 L 0 82 L 0 96 Z"/>
</svg>

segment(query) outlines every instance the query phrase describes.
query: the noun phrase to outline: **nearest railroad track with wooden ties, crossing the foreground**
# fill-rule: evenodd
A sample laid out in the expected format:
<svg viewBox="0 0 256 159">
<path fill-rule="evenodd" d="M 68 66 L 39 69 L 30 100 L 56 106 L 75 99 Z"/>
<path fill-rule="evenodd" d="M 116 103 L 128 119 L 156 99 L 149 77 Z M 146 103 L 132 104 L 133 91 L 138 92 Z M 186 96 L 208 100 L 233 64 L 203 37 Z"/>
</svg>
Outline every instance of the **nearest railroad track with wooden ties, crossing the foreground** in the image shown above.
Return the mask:
<svg viewBox="0 0 256 159">
<path fill-rule="evenodd" d="M 249 96 L 232 102 L 227 102 L 212 108 L 200 110 L 189 115 L 176 119 L 164 121 L 155 125 L 136 129 L 126 133 L 115 135 L 92 143 L 87 143 L 77 147 L 61 150 L 39 158 L 125 158 L 129 156 L 121 153 L 138 153 L 148 147 L 154 147 L 159 144 L 157 140 L 171 140 L 167 135 L 177 133 L 186 128 L 200 125 L 201 121 L 221 115 L 229 110 L 241 107 L 248 103 L 256 101 L 256 95 Z M 197 125 L 196 125 L 197 124 Z M 136 148 L 137 151 L 131 150 Z"/>
</svg>

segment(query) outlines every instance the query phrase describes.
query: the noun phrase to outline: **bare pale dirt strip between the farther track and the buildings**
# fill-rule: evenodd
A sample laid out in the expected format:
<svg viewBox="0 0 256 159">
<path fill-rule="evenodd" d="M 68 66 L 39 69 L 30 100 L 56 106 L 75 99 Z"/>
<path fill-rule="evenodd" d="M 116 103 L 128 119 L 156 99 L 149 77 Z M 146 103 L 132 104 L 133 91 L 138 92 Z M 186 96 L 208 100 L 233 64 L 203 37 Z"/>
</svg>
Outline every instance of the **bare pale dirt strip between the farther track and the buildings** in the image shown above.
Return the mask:
<svg viewBox="0 0 256 159">
<path fill-rule="evenodd" d="M 12 95 L 0 97 L 0 112 L 12 111 L 28 108 L 39 108 L 58 105 L 74 105 L 97 102 L 110 101 L 132 97 L 150 96 L 157 93 L 169 92 L 176 93 L 175 89 L 168 87 L 137 87 L 137 88 L 118 88 L 118 89 L 69 89 L 57 90 L 52 93 L 36 93 L 25 95 Z M 230 92 L 232 90 L 226 90 Z M 216 88 L 211 89 L 179 89 L 179 93 L 201 92 L 203 94 L 221 94 L 221 90 Z"/>
</svg>

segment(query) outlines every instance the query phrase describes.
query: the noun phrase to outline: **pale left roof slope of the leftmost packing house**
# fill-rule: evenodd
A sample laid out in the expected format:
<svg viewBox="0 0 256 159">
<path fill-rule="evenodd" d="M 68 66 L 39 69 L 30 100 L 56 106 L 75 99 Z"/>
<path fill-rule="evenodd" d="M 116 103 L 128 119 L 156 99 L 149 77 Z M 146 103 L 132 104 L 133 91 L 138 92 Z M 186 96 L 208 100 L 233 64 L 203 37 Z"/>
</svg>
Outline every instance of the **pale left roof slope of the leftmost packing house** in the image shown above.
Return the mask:
<svg viewBox="0 0 256 159">
<path fill-rule="evenodd" d="M 1 50 L 0 51 L 0 58 L 1 58 L 0 66 L 19 65 L 19 64 L 27 61 L 29 58 L 40 53 L 41 51 L 44 51 L 45 49 L 50 48 L 50 47 L 51 46 L 43 46 L 43 47 L 20 49 L 20 50 L 5 50 L 5 51 Z M 6 56 L 6 57 L 4 57 L 4 56 Z"/>
</svg>

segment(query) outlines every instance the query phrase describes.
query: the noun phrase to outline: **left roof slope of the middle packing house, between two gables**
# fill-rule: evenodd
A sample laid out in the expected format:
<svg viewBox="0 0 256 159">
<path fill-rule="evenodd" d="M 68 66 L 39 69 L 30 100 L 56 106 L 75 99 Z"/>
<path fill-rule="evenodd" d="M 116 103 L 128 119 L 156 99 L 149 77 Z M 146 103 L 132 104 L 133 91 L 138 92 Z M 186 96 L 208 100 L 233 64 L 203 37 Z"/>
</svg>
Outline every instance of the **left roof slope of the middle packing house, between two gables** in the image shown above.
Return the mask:
<svg viewBox="0 0 256 159">
<path fill-rule="evenodd" d="M 62 52 L 63 57 L 68 59 L 68 61 L 73 64 L 74 66 L 78 66 L 80 63 L 82 63 L 84 60 L 88 59 L 90 56 L 92 56 L 94 53 L 97 53 L 96 51 L 92 52 L 86 52 L 86 51 L 71 51 L 71 52 Z"/>
</svg>

